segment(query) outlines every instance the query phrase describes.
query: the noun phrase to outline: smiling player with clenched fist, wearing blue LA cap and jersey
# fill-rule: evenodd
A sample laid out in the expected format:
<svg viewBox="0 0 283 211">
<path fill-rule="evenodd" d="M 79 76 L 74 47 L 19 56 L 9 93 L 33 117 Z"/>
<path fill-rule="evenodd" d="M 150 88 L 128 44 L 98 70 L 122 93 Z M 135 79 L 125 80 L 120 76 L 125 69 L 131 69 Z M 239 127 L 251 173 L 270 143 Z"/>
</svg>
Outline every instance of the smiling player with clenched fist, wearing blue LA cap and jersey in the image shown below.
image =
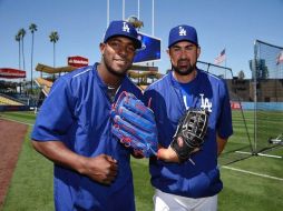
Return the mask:
<svg viewBox="0 0 283 211">
<path fill-rule="evenodd" d="M 60 77 L 45 100 L 31 139 L 55 163 L 56 210 L 135 210 L 130 151 L 111 133 L 110 109 L 123 91 L 143 97 L 126 77 L 140 47 L 130 23 L 113 21 L 100 63 Z"/>
</svg>

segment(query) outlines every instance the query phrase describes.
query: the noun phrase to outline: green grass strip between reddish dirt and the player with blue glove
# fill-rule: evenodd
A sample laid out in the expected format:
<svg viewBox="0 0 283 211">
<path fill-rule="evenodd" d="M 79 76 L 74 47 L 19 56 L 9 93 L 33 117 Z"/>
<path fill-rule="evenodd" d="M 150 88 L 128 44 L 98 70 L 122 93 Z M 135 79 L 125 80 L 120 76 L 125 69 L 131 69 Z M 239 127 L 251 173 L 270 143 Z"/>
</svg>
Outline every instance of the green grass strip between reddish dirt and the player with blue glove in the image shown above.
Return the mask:
<svg viewBox="0 0 283 211">
<path fill-rule="evenodd" d="M 19 154 L 3 211 L 53 210 L 52 163 L 32 149 L 30 130 L 31 127 Z"/>
</svg>

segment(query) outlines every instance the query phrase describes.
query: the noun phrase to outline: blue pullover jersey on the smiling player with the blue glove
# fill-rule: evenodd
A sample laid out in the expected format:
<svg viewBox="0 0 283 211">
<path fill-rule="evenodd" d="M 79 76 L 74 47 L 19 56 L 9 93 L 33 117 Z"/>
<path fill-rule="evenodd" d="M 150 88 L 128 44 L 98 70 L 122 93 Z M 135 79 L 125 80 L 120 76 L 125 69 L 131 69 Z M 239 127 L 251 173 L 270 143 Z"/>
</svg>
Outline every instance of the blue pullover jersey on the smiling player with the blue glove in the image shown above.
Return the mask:
<svg viewBox="0 0 283 211">
<path fill-rule="evenodd" d="M 105 153 L 118 161 L 118 175 L 110 185 L 55 164 L 56 210 L 135 210 L 130 152 L 111 133 L 107 89 L 98 76 L 97 64 L 75 70 L 55 82 L 37 117 L 31 139 L 61 141 L 78 154 Z M 116 100 L 121 91 L 143 98 L 127 77 Z"/>
</svg>

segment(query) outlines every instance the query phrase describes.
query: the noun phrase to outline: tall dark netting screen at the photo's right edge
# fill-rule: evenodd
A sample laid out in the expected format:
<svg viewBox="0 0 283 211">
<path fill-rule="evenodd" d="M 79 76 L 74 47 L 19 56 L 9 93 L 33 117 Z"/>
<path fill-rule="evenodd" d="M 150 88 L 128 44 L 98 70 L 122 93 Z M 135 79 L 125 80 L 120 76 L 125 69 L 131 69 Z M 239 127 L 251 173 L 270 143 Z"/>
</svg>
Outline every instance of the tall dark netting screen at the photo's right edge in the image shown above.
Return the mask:
<svg viewBox="0 0 283 211">
<path fill-rule="evenodd" d="M 282 147 L 283 47 L 260 40 L 250 61 L 254 92 L 254 152 Z"/>
</svg>

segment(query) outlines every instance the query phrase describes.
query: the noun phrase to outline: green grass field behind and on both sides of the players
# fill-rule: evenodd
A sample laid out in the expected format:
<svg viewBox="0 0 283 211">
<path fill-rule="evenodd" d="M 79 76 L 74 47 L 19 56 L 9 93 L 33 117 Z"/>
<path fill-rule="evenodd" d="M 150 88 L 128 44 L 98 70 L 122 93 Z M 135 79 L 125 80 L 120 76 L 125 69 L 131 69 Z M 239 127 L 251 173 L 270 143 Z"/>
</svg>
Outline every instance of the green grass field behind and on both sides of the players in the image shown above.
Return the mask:
<svg viewBox="0 0 283 211">
<path fill-rule="evenodd" d="M 248 133 L 252 137 L 253 114 L 245 113 Z M 52 163 L 38 154 L 30 144 L 29 137 L 35 122 L 33 112 L 1 112 L 0 120 L 12 120 L 25 124 L 25 131 L 19 157 L 13 169 L 0 210 L 2 211 L 50 211 L 52 202 Z M 270 124 L 270 122 L 269 122 Z M 276 122 L 274 122 L 274 125 Z M 224 189 L 218 195 L 219 211 L 280 211 L 283 208 L 283 147 L 271 148 L 265 155 L 248 154 L 250 142 L 243 127 L 240 112 L 233 111 L 234 134 L 219 157 L 221 173 Z M 269 128 L 272 128 L 269 125 Z M 9 139 L 1 142 L 10 144 Z M 12 138 L 14 134 L 10 134 Z M 238 152 L 235 152 L 238 151 Z M 241 151 L 241 153 L 240 153 Z M 245 153 L 243 153 L 245 152 Z M 1 162 L 4 159 L 1 159 Z M 7 160 L 7 159 L 6 159 Z M 7 169 L 1 164 L 0 177 Z M 131 159 L 134 172 L 137 211 L 153 210 L 154 189 L 150 185 L 148 160 Z M 6 175 L 7 177 L 7 175 Z M 3 179 L 0 178 L 0 181 Z M 2 189 L 1 183 L 1 189 Z M 125 199 L 126 202 L 127 199 Z"/>
</svg>

